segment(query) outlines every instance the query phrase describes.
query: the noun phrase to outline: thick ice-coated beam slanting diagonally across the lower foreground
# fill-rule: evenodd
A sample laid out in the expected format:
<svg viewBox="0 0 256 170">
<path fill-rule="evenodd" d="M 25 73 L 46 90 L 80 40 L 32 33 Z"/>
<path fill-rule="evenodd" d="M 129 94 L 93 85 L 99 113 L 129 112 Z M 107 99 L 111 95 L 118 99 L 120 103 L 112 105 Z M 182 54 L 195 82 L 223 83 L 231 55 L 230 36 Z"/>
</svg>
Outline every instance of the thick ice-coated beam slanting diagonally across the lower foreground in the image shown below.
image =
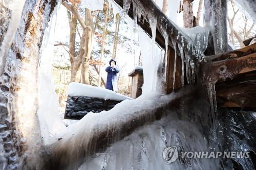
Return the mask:
<svg viewBox="0 0 256 170">
<path fill-rule="evenodd" d="M 93 126 L 84 126 L 88 122 L 83 122 L 80 124 L 81 126 L 90 128 L 77 129 L 73 133 L 70 132 L 70 136 L 60 136 L 55 143 L 47 147 L 49 148 L 49 156 L 45 160 L 43 169 L 78 169 L 86 158 L 103 152 L 112 143 L 130 135 L 139 127 L 167 116 L 168 113 L 172 113 L 170 110 L 180 108 L 182 99 L 192 98 L 193 96 L 196 96 L 196 89 L 189 86 L 177 93 L 152 100 L 131 100 L 129 105 L 113 108 L 112 113 L 95 113 L 101 114 L 103 117 L 109 117 L 109 119 L 103 122 L 101 120 L 96 126 L 90 121 Z M 108 116 L 108 114 L 117 111 L 120 114 Z M 94 118 L 93 121 L 97 122 L 97 119 Z"/>
</svg>

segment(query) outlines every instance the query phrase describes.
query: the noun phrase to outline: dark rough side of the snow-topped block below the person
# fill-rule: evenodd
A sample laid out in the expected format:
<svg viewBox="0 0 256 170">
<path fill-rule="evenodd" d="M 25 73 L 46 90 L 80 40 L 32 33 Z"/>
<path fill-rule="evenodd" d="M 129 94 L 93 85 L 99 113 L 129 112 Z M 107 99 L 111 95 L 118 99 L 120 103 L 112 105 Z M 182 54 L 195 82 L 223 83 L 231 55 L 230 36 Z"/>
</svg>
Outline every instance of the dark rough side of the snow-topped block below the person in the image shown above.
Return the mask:
<svg viewBox="0 0 256 170">
<path fill-rule="evenodd" d="M 89 112 L 110 110 L 122 101 L 104 100 L 88 96 L 68 96 L 64 118 L 80 120 Z"/>
</svg>

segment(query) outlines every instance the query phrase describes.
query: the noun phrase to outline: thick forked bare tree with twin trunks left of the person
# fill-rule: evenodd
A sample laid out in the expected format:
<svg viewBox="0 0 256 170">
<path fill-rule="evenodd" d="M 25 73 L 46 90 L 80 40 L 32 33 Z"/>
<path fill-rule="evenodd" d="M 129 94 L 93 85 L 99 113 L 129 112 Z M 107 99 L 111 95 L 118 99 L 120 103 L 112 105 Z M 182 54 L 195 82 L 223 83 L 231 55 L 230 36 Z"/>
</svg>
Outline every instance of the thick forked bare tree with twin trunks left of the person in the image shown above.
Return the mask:
<svg viewBox="0 0 256 170">
<path fill-rule="evenodd" d="M 68 18 L 70 23 L 69 56 L 71 62 L 71 82 L 75 81 L 77 72 L 81 67 L 82 83 L 90 84 L 89 63 L 90 55 L 92 52 L 92 40 L 94 35 L 93 21 L 91 11 L 89 9 L 86 9 L 85 21 L 80 17 L 80 14 L 78 13 L 77 3 L 77 1 L 72 1 L 71 3 L 65 1 L 62 2 L 62 5 L 68 9 Z M 80 37 L 80 47 L 78 53 L 76 53 L 75 48 L 77 20 L 83 29 L 82 36 Z"/>
</svg>

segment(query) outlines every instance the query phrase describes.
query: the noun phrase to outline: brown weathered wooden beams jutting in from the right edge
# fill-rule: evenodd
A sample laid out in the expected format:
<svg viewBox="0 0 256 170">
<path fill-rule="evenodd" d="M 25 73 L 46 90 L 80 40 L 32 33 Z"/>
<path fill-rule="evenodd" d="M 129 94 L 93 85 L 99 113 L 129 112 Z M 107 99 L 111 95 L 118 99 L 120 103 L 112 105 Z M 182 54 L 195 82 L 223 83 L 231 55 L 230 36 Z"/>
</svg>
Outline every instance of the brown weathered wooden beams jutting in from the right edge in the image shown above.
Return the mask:
<svg viewBox="0 0 256 170">
<path fill-rule="evenodd" d="M 202 67 L 204 83 L 216 82 L 221 107 L 256 109 L 256 44 L 212 57 Z"/>
</svg>

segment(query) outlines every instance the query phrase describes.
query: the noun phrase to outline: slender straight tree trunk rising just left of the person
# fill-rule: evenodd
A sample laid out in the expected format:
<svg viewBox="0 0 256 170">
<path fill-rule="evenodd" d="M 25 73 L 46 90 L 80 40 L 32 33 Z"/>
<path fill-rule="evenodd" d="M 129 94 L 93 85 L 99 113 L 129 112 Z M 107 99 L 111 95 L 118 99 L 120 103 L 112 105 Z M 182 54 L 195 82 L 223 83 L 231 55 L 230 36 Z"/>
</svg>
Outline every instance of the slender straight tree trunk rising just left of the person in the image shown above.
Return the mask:
<svg viewBox="0 0 256 170">
<path fill-rule="evenodd" d="M 102 65 L 102 57 L 104 55 L 104 41 L 105 41 L 105 35 L 106 35 L 106 23 L 108 22 L 108 17 L 109 17 L 109 3 L 106 3 L 106 11 L 105 11 L 105 25 L 104 25 L 104 30 L 102 34 L 102 41 L 101 41 L 101 51 L 100 51 L 100 65 L 99 65 L 99 78 L 98 78 L 98 87 L 101 86 L 101 65 Z"/>
</svg>

